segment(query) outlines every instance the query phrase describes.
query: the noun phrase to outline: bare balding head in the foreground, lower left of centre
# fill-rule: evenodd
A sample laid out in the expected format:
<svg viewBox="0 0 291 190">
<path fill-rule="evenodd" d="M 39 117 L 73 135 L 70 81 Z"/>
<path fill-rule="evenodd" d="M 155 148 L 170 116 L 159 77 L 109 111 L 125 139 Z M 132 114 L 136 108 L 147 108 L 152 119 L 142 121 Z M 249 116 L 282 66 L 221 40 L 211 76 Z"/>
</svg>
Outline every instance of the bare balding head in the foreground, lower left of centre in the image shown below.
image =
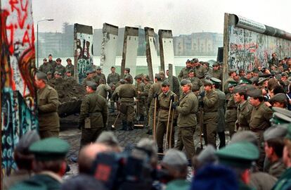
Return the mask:
<svg viewBox="0 0 291 190">
<path fill-rule="evenodd" d="M 79 173 L 90 174 L 93 161 L 97 154 L 106 151 L 110 151 L 110 148 L 105 146 L 105 144 L 94 143 L 84 146 L 81 149 L 78 158 Z"/>
</svg>

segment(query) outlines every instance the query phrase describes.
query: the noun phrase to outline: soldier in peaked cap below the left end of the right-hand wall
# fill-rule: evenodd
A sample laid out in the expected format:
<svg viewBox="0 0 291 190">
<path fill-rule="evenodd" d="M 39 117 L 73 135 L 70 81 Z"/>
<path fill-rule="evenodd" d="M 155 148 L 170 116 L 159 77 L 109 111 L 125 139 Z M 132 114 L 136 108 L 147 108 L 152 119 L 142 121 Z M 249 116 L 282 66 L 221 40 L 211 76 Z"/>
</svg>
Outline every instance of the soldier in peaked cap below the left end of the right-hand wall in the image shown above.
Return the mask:
<svg viewBox="0 0 291 190">
<path fill-rule="evenodd" d="M 226 95 L 226 126 L 229 130 L 229 137 L 235 133 L 235 121 L 238 119 L 238 105 L 235 103 L 233 89 L 238 83 L 235 81 L 228 82 L 228 91 Z"/>
</svg>

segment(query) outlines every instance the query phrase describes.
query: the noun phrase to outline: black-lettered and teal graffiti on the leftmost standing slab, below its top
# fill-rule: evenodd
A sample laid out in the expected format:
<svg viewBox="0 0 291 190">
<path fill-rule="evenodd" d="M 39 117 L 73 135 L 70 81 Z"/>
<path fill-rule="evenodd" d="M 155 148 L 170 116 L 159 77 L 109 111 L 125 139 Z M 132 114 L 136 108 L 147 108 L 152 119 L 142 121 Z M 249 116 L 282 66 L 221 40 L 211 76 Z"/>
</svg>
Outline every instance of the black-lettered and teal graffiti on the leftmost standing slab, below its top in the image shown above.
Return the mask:
<svg viewBox="0 0 291 190">
<path fill-rule="evenodd" d="M 86 78 L 86 72 L 93 68 L 93 35 L 77 32 L 77 70 L 79 74 L 79 83 Z"/>
</svg>

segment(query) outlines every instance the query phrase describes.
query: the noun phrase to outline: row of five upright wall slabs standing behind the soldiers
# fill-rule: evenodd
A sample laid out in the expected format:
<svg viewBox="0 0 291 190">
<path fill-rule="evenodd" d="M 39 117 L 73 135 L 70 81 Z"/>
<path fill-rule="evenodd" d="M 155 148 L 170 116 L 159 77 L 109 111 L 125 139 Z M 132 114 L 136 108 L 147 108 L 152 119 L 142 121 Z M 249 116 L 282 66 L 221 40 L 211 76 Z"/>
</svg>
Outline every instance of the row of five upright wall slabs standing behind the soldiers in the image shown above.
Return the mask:
<svg viewBox="0 0 291 190">
<path fill-rule="evenodd" d="M 146 31 L 150 31 L 150 34 Z M 88 70 L 94 69 L 94 65 L 100 65 L 107 76 L 111 66 L 115 66 L 117 54 L 118 27 L 108 23 L 103 24 L 103 37 L 101 43 L 101 63 L 93 63 L 93 32 L 92 27 L 75 24 L 75 75 L 79 83 L 86 77 Z M 160 59 L 157 55 L 157 42 L 153 28 L 145 27 L 146 56 L 148 61 L 148 73 L 153 80 L 153 74 L 160 70 L 166 70 L 168 64 L 174 64 L 174 46 L 171 30 L 159 30 Z M 125 27 L 124 44 L 122 51 L 122 73 L 124 68 L 131 68 L 131 75 L 136 73 L 136 58 L 138 50 L 138 28 Z M 88 53 L 87 53 L 88 52 Z M 164 66 L 166 64 L 166 67 Z M 175 71 L 173 71 L 175 73 Z"/>
</svg>

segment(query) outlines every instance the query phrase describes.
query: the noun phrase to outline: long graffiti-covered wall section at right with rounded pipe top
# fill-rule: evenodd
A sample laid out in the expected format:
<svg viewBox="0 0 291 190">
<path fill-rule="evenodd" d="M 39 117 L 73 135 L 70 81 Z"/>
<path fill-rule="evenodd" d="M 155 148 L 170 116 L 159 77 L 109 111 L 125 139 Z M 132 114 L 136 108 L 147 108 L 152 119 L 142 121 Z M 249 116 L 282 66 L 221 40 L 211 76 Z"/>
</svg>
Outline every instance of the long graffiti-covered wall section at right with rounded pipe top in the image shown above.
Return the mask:
<svg viewBox="0 0 291 190">
<path fill-rule="evenodd" d="M 224 63 L 228 69 L 269 67 L 272 53 L 279 59 L 291 55 L 290 40 L 268 32 L 277 29 L 228 13 L 224 20 Z"/>
</svg>

